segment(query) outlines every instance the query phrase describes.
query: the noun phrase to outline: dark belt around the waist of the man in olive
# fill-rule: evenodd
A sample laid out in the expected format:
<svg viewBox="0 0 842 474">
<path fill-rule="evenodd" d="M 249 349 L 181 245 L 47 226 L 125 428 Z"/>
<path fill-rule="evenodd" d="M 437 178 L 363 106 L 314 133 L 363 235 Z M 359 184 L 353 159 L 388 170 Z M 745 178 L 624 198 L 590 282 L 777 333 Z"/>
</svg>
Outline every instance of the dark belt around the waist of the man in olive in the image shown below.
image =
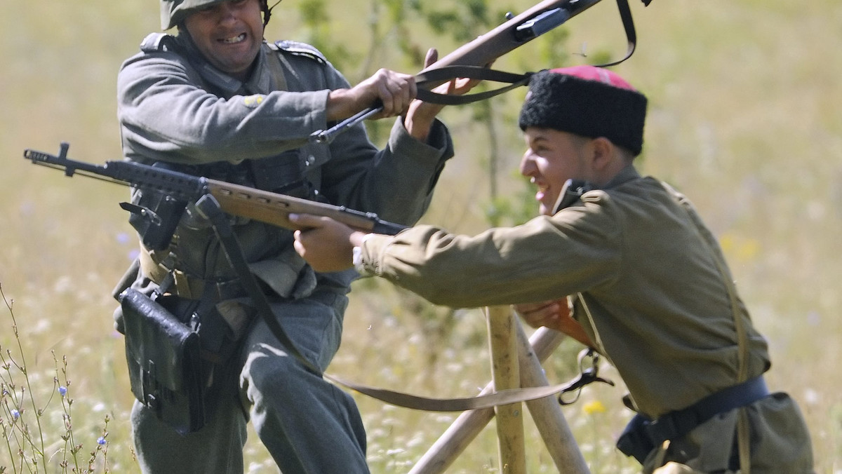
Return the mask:
<svg viewBox="0 0 842 474">
<path fill-rule="evenodd" d="M 763 375 L 717 391 L 690 407 L 667 413 L 646 425 L 655 446 L 667 439 L 679 439 L 719 413 L 744 407 L 769 395 Z"/>
</svg>

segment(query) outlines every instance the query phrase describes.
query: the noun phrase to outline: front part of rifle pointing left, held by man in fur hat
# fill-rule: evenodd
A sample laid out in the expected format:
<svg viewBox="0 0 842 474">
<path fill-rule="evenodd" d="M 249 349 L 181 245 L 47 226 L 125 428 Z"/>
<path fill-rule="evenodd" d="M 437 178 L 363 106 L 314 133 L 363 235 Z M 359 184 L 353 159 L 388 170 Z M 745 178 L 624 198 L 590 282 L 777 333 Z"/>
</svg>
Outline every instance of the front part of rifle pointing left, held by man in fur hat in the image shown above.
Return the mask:
<svg viewBox="0 0 842 474">
<path fill-rule="evenodd" d="M 205 196 L 216 200 L 219 208 L 227 214 L 248 217 L 288 229 L 297 228 L 289 220 L 290 213 L 331 217 L 363 232 L 394 235 L 406 228 L 400 224 L 381 221 L 373 213 L 270 193 L 158 166 L 129 161 L 109 161 L 103 165 L 77 162 L 67 158 L 68 148 L 67 143 L 61 143 L 57 156 L 28 149 L 24 151 L 24 157 L 35 164 L 61 169 L 67 176 L 81 174 L 89 178 L 159 192 L 162 202 L 156 209 L 125 202 L 120 204 L 120 207 L 132 213 L 132 225 L 138 228 L 136 223 L 140 223 L 141 228 L 138 228 L 138 231 L 141 232 L 141 238 L 147 248 L 166 248 L 186 206 Z M 162 216 L 163 213 L 169 216 Z"/>
</svg>

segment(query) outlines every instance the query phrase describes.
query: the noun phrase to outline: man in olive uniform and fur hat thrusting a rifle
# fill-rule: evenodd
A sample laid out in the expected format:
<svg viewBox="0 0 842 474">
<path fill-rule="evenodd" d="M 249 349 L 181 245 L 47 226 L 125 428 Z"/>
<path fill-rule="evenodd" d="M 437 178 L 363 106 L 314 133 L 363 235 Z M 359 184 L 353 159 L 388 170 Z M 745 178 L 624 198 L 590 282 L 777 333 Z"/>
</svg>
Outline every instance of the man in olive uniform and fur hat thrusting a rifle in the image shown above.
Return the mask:
<svg viewBox="0 0 842 474">
<path fill-rule="evenodd" d="M 437 304 L 514 304 L 616 366 L 637 411 L 618 447 L 644 472 L 804 474 L 807 428 L 767 390 L 765 339 L 690 202 L 637 173 L 647 99 L 613 72 L 572 67 L 530 81 L 520 172 L 541 216 L 477 236 L 415 226 L 364 235 L 293 216 L 316 269 L 355 264 Z M 572 315 L 572 316 L 571 316 Z"/>
</svg>

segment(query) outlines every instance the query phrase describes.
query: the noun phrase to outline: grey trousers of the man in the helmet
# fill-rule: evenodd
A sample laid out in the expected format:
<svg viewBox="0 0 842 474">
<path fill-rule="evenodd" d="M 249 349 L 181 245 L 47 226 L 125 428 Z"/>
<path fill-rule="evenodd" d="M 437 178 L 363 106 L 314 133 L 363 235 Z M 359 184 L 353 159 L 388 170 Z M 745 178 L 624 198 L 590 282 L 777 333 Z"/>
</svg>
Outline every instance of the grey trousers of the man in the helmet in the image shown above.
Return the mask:
<svg viewBox="0 0 842 474">
<path fill-rule="evenodd" d="M 318 291 L 272 311 L 298 349 L 325 369 L 339 347 L 347 298 Z M 146 474 L 243 472 L 250 416 L 280 471 L 365 473 L 365 429 L 354 399 L 304 369 L 258 317 L 228 374 L 215 382 L 219 406 L 195 433 L 179 435 L 140 402 L 131 413 L 141 471 Z"/>
</svg>

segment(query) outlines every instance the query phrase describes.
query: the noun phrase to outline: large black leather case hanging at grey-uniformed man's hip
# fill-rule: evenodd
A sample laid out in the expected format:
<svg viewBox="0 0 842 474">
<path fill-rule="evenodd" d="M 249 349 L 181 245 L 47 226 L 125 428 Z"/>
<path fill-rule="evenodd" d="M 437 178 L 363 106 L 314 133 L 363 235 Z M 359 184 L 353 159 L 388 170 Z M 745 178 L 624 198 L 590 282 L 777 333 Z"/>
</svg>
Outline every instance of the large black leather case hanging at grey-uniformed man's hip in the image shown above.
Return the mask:
<svg viewBox="0 0 842 474">
<path fill-rule="evenodd" d="M 200 301 L 133 288 L 118 299 L 132 393 L 180 434 L 202 428 L 218 398 L 208 397 L 214 373 L 234 349 L 230 328 Z"/>
</svg>

